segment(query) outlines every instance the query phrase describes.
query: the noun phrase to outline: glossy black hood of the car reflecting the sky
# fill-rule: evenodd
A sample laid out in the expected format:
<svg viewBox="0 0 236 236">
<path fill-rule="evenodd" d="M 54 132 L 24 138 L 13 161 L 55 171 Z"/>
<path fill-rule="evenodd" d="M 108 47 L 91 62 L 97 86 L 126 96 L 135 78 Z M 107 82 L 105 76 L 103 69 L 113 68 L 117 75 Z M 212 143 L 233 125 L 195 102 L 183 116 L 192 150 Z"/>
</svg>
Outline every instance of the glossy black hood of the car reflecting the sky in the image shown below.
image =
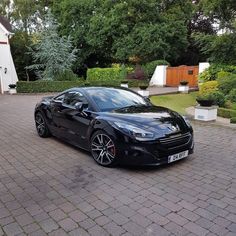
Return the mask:
<svg viewBox="0 0 236 236">
<path fill-rule="evenodd" d="M 129 123 L 145 129 L 154 133 L 156 138 L 189 131 L 188 125 L 177 112 L 158 106 L 127 107 L 102 112 L 102 117 L 110 122 Z"/>
</svg>

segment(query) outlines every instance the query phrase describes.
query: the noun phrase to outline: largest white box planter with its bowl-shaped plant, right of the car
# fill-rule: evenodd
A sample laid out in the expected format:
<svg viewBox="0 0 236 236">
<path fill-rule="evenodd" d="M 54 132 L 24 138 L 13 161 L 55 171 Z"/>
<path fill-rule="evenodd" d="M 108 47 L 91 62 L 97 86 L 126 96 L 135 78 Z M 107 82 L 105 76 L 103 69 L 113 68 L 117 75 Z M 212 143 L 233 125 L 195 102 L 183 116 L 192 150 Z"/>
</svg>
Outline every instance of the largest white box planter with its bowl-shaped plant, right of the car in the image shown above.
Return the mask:
<svg viewBox="0 0 236 236">
<path fill-rule="evenodd" d="M 209 94 L 202 94 L 197 96 L 198 103 L 195 106 L 195 119 L 201 121 L 215 121 L 217 118 L 217 108 L 215 106 L 215 99 Z"/>
</svg>

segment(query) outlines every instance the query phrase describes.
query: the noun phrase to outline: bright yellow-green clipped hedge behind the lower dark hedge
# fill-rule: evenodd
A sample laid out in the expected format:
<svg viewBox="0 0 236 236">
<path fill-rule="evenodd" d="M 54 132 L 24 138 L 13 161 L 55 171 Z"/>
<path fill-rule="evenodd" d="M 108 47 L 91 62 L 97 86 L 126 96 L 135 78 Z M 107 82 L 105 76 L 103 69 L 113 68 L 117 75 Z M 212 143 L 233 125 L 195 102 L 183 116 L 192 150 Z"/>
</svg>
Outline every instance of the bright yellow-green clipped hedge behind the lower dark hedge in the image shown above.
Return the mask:
<svg viewBox="0 0 236 236">
<path fill-rule="evenodd" d="M 87 70 L 87 80 L 92 81 L 111 81 L 111 80 L 123 80 L 124 75 L 132 72 L 133 68 L 92 68 Z"/>
</svg>

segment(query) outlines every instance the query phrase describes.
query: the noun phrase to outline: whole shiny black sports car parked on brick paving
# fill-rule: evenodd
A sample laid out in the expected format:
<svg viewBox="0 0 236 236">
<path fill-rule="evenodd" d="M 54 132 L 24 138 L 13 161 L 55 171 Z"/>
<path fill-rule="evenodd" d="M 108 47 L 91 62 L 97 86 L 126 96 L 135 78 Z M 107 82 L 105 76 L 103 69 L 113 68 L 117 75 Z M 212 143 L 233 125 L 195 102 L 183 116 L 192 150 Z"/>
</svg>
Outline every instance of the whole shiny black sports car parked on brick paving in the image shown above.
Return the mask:
<svg viewBox="0 0 236 236">
<path fill-rule="evenodd" d="M 91 152 L 102 166 L 159 165 L 193 153 L 193 129 L 178 113 L 123 88 L 72 88 L 36 105 L 40 137 Z"/>
</svg>

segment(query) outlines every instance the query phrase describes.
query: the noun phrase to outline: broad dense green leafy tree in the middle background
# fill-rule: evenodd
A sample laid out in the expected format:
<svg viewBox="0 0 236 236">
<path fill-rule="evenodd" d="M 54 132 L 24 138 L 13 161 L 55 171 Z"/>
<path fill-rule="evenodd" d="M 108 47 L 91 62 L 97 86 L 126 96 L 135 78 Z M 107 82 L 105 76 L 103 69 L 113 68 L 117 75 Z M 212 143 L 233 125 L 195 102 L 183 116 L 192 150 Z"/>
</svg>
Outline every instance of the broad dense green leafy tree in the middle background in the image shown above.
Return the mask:
<svg viewBox="0 0 236 236">
<path fill-rule="evenodd" d="M 77 63 L 104 66 L 131 56 L 174 62 L 188 44 L 189 6 L 190 0 L 61 0 L 54 12 L 60 32 L 70 32 L 79 49 Z"/>
</svg>

